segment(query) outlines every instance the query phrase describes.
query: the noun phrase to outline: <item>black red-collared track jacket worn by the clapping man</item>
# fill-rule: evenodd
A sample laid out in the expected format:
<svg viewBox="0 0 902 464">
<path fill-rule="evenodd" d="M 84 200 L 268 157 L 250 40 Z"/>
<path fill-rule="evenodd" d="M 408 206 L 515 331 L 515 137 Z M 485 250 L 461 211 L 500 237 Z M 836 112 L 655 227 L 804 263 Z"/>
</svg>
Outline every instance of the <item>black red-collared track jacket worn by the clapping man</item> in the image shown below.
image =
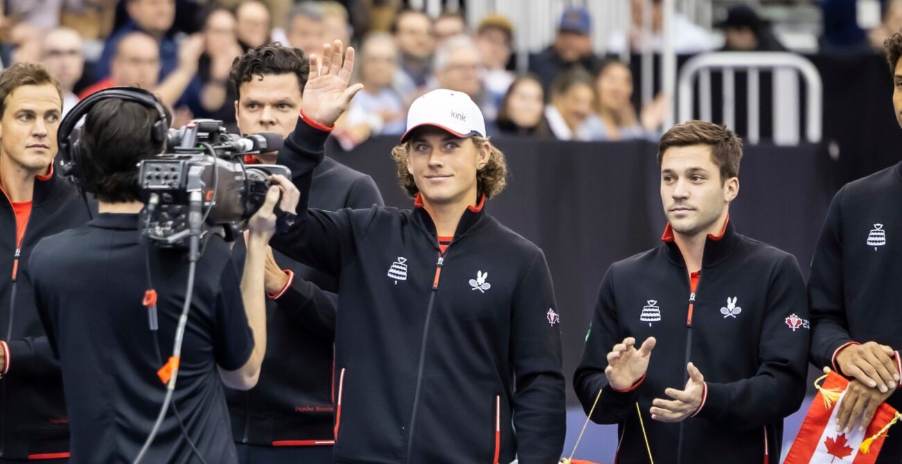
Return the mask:
<svg viewBox="0 0 902 464">
<path fill-rule="evenodd" d="M 618 424 L 619 464 L 649 462 L 637 414 L 656 464 L 777 464 L 783 418 L 805 396 L 807 318 L 805 281 L 792 255 L 727 223 L 719 239 L 708 236 L 692 293 L 676 243 L 665 241 L 608 269 L 574 376 L 576 395 L 588 414 L 603 388 L 592 419 Z M 626 337 L 638 345 L 650 336 L 658 344 L 646 378 L 614 391 L 604 375 L 608 352 Z M 700 409 L 681 423 L 652 420 L 651 400 L 686 386 L 687 360 L 704 375 Z"/>
</svg>

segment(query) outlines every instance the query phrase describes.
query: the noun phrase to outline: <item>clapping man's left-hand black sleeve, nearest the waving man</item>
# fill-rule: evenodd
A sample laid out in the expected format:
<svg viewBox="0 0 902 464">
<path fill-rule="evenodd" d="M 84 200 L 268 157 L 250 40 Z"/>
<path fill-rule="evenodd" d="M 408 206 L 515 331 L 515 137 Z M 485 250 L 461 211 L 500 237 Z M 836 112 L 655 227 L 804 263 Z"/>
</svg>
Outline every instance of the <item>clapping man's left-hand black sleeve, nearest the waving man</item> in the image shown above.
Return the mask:
<svg viewBox="0 0 902 464">
<path fill-rule="evenodd" d="M 604 369 L 608 367 L 608 353 L 614 345 L 623 341 L 618 326 L 617 303 L 613 292 L 614 267 L 608 268 L 598 291 L 598 300 L 592 316 L 592 325 L 585 335 L 583 359 L 576 368 L 573 387 L 576 397 L 588 415 L 595 403 L 598 392 L 602 396 L 592 414 L 594 423 L 621 423 L 633 411 L 633 404 L 639 400 L 642 379 L 629 391 L 614 390 L 608 383 Z M 652 354 L 654 356 L 654 354 Z M 644 378 L 643 378 L 644 379 Z"/>
</svg>

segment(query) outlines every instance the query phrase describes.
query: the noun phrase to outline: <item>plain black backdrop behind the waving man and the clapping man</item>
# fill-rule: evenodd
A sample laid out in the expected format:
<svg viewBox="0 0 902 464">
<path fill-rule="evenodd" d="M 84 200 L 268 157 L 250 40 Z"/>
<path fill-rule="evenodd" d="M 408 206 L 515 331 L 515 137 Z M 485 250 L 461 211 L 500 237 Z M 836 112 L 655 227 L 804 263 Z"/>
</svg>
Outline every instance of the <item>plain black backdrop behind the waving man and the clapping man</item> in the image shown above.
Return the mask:
<svg viewBox="0 0 902 464">
<path fill-rule="evenodd" d="M 410 208 L 399 187 L 391 147 L 380 137 L 328 156 L 369 174 L 385 204 Z M 660 244 L 666 224 L 659 194 L 657 145 L 648 141 L 575 142 L 492 138 L 508 159 L 508 187 L 486 202 L 492 214 L 545 251 L 564 334 L 570 381 L 605 270 Z M 737 232 L 796 255 L 805 277 L 827 206 L 836 165 L 818 145 L 746 147 L 740 193 L 730 215 Z"/>
</svg>

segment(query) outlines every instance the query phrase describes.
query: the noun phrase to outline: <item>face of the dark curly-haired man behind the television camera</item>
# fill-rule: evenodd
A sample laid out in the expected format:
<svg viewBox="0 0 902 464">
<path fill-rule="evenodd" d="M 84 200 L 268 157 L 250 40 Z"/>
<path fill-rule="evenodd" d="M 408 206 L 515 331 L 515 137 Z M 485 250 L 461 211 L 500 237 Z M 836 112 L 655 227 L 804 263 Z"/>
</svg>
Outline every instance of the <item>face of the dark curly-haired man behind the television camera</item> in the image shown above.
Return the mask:
<svg viewBox="0 0 902 464">
<path fill-rule="evenodd" d="M 292 73 L 256 75 L 243 82 L 235 102 L 235 120 L 241 133 L 273 132 L 288 137 L 298 123 L 300 86 Z M 277 153 L 258 155 L 274 163 Z"/>
</svg>

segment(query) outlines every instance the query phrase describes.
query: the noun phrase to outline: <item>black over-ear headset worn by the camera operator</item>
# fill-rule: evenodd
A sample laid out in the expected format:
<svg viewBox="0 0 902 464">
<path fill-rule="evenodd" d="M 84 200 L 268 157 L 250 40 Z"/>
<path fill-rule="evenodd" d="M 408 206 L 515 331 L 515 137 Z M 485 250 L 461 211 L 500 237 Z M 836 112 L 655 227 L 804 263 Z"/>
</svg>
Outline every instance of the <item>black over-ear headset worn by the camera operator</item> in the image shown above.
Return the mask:
<svg viewBox="0 0 902 464">
<path fill-rule="evenodd" d="M 139 103 L 151 109 L 157 110 L 157 120 L 151 128 L 151 137 L 153 141 L 162 142 L 166 140 L 169 134 L 169 120 L 166 118 L 166 110 L 160 105 L 156 97 L 151 92 L 138 87 L 111 87 L 100 90 L 84 100 L 78 102 L 66 117 L 60 123 L 60 130 L 57 132 L 57 142 L 60 147 L 60 174 L 69 177 L 78 187 L 78 190 L 84 192 L 87 187 L 87 177 L 85 172 L 85 148 L 81 146 L 80 134 L 75 134 L 75 126 L 87 112 L 97 103 L 116 98 L 129 102 Z"/>
</svg>

